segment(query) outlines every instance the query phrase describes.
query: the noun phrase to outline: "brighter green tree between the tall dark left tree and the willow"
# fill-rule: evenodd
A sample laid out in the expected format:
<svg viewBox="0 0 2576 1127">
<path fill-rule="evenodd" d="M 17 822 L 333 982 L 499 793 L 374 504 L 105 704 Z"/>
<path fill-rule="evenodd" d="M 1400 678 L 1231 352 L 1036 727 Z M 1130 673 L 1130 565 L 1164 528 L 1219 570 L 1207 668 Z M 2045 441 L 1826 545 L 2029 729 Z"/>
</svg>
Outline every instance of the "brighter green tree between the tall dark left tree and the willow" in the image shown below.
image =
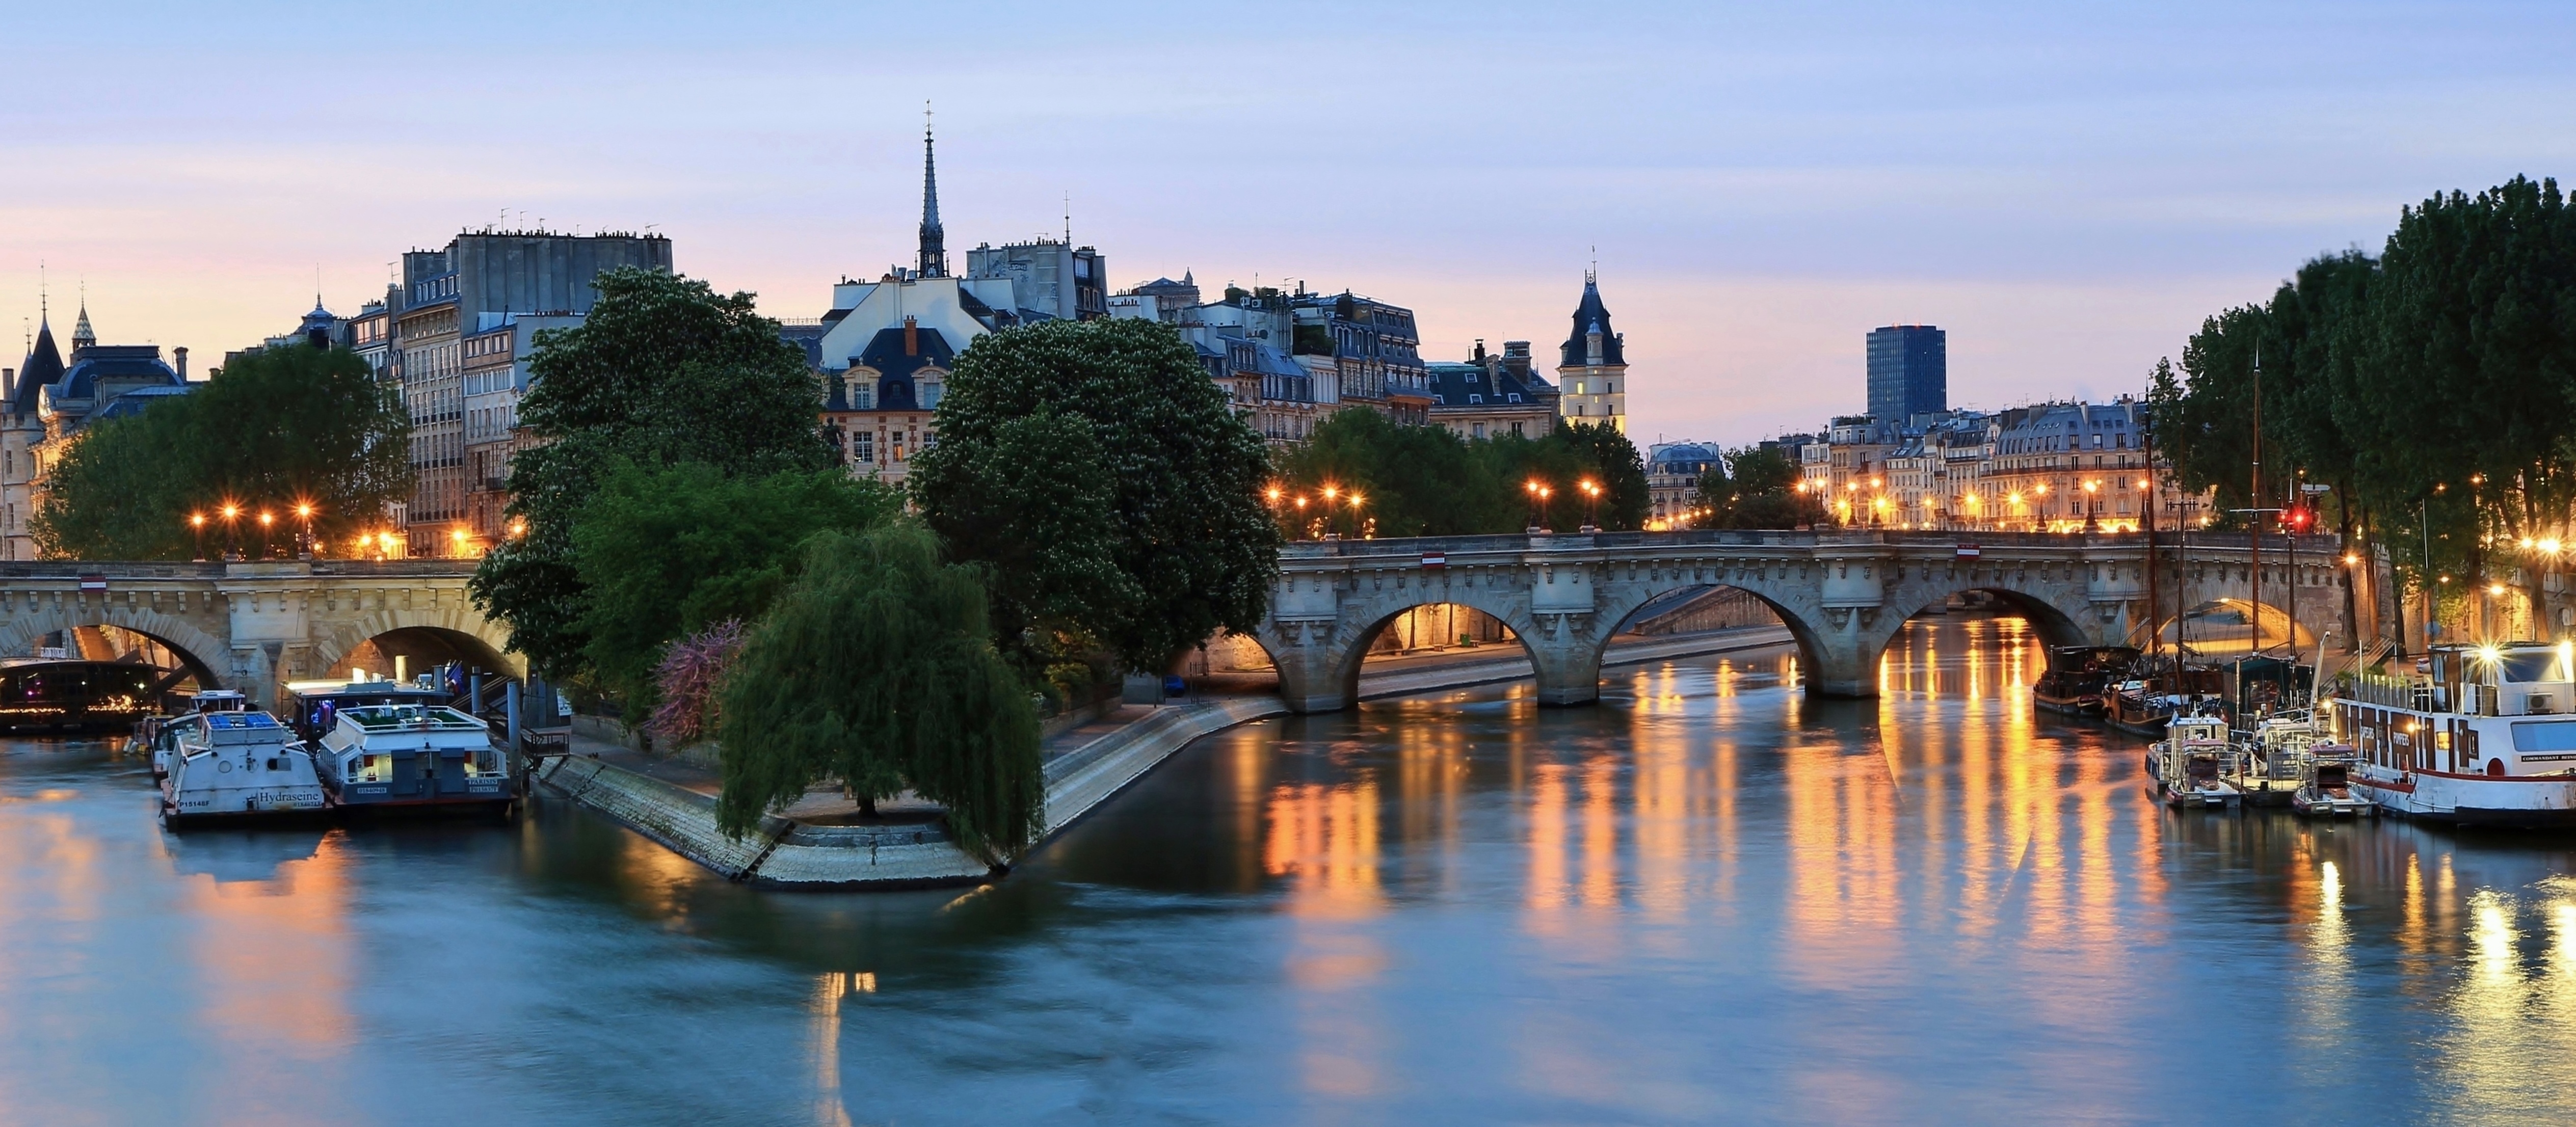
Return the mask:
<svg viewBox="0 0 2576 1127">
<path fill-rule="evenodd" d="M 840 466 L 729 479 L 706 463 L 613 463 L 572 525 L 587 592 L 582 659 L 639 715 L 654 702 L 654 666 L 672 638 L 757 620 L 806 538 L 860 533 L 896 512 L 894 489 Z"/>
</svg>

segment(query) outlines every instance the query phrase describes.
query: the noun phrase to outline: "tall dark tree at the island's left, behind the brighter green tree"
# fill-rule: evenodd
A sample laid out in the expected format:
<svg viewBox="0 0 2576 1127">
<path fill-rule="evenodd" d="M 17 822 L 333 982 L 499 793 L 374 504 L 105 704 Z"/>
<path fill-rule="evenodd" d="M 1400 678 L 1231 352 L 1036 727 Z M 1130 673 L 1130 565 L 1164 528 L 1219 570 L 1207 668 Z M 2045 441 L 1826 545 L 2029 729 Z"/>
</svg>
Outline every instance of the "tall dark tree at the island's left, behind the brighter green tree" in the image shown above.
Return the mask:
<svg viewBox="0 0 2576 1127">
<path fill-rule="evenodd" d="M 510 515 L 526 533 L 474 574 L 474 600 L 510 623 L 510 648 L 554 679 L 587 672 L 587 587 L 572 527 L 608 466 L 703 463 L 726 476 L 814 471 L 822 386 L 750 293 L 659 270 L 600 273 L 572 329 L 536 334 L 520 425 L 536 448 L 510 463 Z"/>
</svg>

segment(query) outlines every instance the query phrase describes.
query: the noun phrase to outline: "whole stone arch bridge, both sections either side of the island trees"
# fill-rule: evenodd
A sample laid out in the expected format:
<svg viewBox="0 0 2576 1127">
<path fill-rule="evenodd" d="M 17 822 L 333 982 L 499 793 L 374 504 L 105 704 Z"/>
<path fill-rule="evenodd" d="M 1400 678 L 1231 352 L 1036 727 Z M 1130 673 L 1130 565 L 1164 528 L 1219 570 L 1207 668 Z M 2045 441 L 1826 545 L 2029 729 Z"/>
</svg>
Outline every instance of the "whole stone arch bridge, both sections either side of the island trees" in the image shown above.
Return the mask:
<svg viewBox="0 0 2576 1127">
<path fill-rule="evenodd" d="M 1965 545 L 1973 545 L 1971 556 Z M 2246 602 L 2244 538 L 2195 535 L 2164 558 L 2164 615 Z M 2264 540 L 2264 602 L 2298 584 L 2306 633 L 2342 625 L 2347 582 L 2331 538 Z M 1808 692 L 1878 692 L 1878 654 L 1906 618 L 1953 594 L 1991 592 L 2050 643 L 2146 638 L 2146 540 L 2045 533 L 1600 533 L 1306 540 L 1280 551 L 1280 582 L 1257 641 L 1291 708 L 1358 700 L 1360 659 L 1404 610 L 1455 602 L 1520 636 L 1538 700 L 1589 702 L 1602 646 L 1638 607 L 1739 587 L 1788 625 Z M 204 684 L 273 700 L 289 679 L 348 672 L 355 654 L 466 659 L 520 677 L 507 628 L 466 594 L 474 561 L 312 564 L 0 564 L 0 656 L 39 638 L 113 625 L 160 641 Z"/>
</svg>

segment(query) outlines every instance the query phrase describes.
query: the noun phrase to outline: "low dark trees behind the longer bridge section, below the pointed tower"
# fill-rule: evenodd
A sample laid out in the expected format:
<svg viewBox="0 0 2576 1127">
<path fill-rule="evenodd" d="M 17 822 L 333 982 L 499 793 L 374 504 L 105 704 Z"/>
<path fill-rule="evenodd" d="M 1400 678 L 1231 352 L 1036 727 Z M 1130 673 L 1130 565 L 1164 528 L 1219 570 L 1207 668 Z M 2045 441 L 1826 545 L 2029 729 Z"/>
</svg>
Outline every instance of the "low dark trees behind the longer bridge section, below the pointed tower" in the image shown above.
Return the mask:
<svg viewBox="0 0 2576 1127">
<path fill-rule="evenodd" d="M 1582 484 L 1600 489 L 1587 497 Z M 1548 489 L 1533 502 L 1530 484 Z M 1324 489 L 1360 494 L 1342 530 L 1376 535 L 1520 533 L 1533 517 L 1574 527 L 1641 527 L 1651 512 L 1646 463 L 1618 427 L 1569 422 L 1546 437 L 1458 437 L 1448 427 L 1396 425 L 1378 412 L 1340 412 L 1278 458 L 1278 515 L 1293 535 L 1324 517 Z M 1296 497 L 1309 507 L 1298 509 Z"/>
</svg>

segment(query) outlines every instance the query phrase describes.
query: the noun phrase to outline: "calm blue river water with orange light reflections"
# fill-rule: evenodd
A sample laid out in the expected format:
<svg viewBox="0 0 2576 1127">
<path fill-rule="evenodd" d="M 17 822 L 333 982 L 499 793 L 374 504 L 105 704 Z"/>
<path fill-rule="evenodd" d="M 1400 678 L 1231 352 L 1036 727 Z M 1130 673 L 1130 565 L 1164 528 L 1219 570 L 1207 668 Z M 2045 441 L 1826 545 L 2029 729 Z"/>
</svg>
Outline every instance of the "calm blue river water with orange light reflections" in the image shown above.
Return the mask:
<svg viewBox="0 0 2576 1127">
<path fill-rule="evenodd" d="M 2576 1119 L 2576 841 L 2174 816 L 2017 620 L 1273 720 L 987 890 L 582 813 L 165 836 L 0 746 L 0 1122 Z"/>
</svg>

